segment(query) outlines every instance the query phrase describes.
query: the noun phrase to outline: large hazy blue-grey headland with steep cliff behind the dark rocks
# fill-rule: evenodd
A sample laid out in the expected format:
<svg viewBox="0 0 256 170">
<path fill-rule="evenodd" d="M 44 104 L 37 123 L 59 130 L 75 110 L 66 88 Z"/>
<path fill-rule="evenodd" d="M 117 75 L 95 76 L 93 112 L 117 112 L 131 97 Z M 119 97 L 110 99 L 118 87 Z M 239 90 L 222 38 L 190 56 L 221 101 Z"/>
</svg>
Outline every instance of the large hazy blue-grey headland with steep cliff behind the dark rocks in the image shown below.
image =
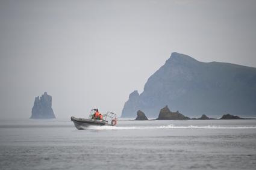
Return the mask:
<svg viewBox="0 0 256 170">
<path fill-rule="evenodd" d="M 172 53 L 149 77 L 144 91 L 134 91 L 122 117 L 136 117 L 141 109 L 157 117 L 165 105 L 185 115 L 256 115 L 256 68 L 224 62 L 200 62 Z"/>
</svg>

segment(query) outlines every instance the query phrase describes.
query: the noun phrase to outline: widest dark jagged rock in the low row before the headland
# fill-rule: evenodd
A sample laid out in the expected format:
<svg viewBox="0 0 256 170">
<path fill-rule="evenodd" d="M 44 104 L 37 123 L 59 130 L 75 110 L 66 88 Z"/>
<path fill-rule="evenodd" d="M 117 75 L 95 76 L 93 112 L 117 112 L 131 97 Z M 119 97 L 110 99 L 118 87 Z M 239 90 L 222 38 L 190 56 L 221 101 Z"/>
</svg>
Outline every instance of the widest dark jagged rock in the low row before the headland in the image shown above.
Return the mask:
<svg viewBox="0 0 256 170">
<path fill-rule="evenodd" d="M 190 118 L 180 114 L 179 111 L 171 112 L 168 106 L 165 106 L 160 110 L 157 120 L 190 120 Z"/>
</svg>

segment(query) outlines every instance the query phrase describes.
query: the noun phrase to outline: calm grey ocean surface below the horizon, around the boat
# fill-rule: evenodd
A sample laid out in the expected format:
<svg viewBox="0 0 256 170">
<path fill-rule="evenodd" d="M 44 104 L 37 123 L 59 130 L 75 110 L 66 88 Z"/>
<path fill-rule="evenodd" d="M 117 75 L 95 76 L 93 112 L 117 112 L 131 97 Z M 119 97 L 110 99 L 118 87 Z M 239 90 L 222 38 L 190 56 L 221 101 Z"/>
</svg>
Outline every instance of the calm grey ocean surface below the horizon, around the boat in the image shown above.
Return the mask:
<svg viewBox="0 0 256 170">
<path fill-rule="evenodd" d="M 255 169 L 256 120 L 0 120 L 0 169 Z"/>
</svg>

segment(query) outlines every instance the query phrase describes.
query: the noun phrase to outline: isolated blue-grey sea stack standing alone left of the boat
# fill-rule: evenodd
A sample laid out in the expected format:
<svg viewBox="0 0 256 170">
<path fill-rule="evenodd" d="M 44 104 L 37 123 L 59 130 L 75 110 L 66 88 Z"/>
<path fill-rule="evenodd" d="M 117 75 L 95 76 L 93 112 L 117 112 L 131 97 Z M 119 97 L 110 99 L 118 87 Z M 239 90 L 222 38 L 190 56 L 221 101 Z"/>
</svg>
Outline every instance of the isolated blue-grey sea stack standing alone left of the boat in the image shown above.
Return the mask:
<svg viewBox="0 0 256 170">
<path fill-rule="evenodd" d="M 52 97 L 46 92 L 41 97 L 36 97 L 32 109 L 32 119 L 49 119 L 55 118 L 52 110 Z"/>
</svg>

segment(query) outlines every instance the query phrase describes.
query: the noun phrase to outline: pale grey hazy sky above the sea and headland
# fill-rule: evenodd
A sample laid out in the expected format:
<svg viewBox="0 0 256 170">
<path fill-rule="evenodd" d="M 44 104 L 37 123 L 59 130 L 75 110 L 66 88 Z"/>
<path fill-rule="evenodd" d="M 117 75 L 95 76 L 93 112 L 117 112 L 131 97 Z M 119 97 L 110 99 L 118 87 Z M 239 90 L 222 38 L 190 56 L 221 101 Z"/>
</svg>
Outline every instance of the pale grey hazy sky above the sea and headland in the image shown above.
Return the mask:
<svg viewBox="0 0 256 170">
<path fill-rule="evenodd" d="M 1 118 L 120 115 L 172 52 L 256 67 L 256 1 L 0 0 Z"/>
</svg>

